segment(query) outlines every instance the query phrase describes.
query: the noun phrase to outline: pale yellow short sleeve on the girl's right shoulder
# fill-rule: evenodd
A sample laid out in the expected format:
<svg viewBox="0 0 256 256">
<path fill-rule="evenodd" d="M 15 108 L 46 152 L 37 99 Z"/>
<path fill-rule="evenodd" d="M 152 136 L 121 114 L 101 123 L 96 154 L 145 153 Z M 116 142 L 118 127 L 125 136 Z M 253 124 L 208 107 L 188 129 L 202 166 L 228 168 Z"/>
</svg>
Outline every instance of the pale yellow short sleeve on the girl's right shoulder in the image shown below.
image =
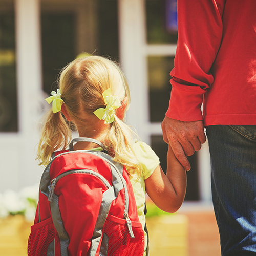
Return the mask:
<svg viewBox="0 0 256 256">
<path fill-rule="evenodd" d="M 134 143 L 133 150 L 142 164 L 144 179 L 147 179 L 160 164 L 159 157 L 150 146 L 141 141 Z"/>
</svg>

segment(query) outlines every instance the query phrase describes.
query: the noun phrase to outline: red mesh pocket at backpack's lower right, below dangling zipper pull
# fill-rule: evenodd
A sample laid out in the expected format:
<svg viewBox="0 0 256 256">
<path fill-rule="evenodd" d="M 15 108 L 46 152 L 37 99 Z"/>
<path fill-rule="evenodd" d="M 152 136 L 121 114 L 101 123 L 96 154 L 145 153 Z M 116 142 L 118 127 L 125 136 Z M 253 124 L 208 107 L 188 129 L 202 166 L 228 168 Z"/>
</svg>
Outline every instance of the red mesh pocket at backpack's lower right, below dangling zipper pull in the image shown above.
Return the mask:
<svg viewBox="0 0 256 256">
<path fill-rule="evenodd" d="M 140 256 L 144 252 L 144 231 L 141 223 L 132 221 L 135 238 L 131 238 L 126 220 L 109 215 L 104 226 L 108 236 L 107 256 Z"/>
</svg>

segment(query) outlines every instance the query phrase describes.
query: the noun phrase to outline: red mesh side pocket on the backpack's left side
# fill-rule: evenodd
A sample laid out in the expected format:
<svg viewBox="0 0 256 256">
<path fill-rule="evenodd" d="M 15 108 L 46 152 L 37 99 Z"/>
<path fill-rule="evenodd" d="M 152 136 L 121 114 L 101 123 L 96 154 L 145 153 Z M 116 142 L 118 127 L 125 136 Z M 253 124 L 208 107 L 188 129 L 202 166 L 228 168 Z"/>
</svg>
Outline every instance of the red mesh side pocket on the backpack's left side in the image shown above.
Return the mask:
<svg viewBox="0 0 256 256">
<path fill-rule="evenodd" d="M 28 256 L 47 256 L 49 245 L 55 239 L 52 219 L 46 219 L 31 227 L 28 239 Z"/>
</svg>

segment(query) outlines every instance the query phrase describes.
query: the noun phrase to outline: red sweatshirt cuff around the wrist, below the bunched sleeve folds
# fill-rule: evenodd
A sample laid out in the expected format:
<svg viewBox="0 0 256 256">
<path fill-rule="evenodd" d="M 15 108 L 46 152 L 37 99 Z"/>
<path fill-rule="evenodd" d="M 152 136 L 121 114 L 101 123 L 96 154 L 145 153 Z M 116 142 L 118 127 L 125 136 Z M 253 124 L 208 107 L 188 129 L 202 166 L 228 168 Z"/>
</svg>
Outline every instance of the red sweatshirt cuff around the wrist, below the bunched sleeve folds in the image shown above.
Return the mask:
<svg viewBox="0 0 256 256">
<path fill-rule="evenodd" d="M 186 86 L 175 82 L 173 79 L 170 94 L 169 108 L 165 115 L 169 118 L 191 122 L 203 120 L 201 105 L 204 90 L 199 86 Z"/>
</svg>

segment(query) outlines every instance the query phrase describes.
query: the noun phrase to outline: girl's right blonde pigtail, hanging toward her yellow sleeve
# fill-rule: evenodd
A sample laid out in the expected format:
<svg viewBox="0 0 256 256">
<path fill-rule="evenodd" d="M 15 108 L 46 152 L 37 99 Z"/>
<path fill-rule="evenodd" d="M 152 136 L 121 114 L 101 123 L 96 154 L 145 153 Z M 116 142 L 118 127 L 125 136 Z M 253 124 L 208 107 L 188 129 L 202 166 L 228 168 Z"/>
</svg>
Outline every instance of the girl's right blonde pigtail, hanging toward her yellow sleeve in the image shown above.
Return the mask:
<svg viewBox="0 0 256 256">
<path fill-rule="evenodd" d="M 130 175 L 136 175 L 139 178 L 142 173 L 142 166 L 133 150 L 136 137 L 138 135 L 115 116 L 115 121 L 108 133 L 110 146 L 114 150 L 114 161 L 123 164 L 129 170 Z"/>
</svg>

